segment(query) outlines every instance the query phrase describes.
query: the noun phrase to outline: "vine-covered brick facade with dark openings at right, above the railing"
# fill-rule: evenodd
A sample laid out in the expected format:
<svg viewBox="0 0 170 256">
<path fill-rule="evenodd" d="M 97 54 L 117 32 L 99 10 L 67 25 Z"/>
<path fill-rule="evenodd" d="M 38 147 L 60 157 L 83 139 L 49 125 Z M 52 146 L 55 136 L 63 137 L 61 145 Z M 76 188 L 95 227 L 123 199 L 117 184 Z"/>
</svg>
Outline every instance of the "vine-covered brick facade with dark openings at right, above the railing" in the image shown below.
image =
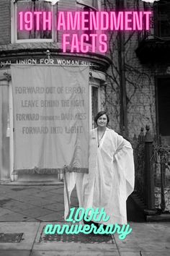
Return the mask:
<svg viewBox="0 0 170 256">
<path fill-rule="evenodd" d="M 120 1 L 108 2 L 107 9 L 115 9 Z M 123 38 L 128 137 L 138 137 L 141 127 L 149 125 L 153 137 L 169 145 L 169 1 L 122 2 L 125 9 L 153 13 L 149 31 L 128 32 Z M 121 132 L 120 38 L 115 33 L 111 36 L 107 108 L 110 125 Z"/>
</svg>

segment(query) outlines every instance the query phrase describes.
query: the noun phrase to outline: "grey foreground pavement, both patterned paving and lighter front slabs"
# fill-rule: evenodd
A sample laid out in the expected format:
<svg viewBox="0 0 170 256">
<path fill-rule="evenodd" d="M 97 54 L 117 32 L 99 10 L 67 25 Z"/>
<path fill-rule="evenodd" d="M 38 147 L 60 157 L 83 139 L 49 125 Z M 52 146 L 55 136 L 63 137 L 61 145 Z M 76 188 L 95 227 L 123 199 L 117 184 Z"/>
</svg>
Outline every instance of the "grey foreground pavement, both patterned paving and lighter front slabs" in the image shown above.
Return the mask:
<svg viewBox="0 0 170 256">
<path fill-rule="evenodd" d="M 76 190 L 71 207 L 78 207 Z M 168 256 L 170 223 L 146 223 L 129 200 L 128 223 L 133 229 L 124 240 L 104 235 L 48 235 L 48 223 L 65 223 L 63 184 L 0 184 L 0 256 Z"/>
</svg>

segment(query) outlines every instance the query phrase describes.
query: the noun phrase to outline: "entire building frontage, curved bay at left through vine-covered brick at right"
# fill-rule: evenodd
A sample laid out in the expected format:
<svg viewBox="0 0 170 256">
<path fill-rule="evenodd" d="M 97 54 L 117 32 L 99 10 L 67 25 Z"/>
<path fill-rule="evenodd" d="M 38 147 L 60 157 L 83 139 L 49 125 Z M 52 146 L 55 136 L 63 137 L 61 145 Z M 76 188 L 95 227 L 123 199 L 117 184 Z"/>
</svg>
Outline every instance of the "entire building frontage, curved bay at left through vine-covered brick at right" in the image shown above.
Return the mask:
<svg viewBox="0 0 170 256">
<path fill-rule="evenodd" d="M 121 8 L 120 2 L 125 9 L 151 10 L 151 29 L 122 33 L 122 37 L 119 33 L 109 32 L 107 54 L 93 53 L 91 40 L 85 42 L 89 46 L 86 54 L 71 53 L 70 49 L 63 53 L 61 32 L 54 27 L 50 32 L 34 33 L 20 33 L 17 29 L 17 10 L 22 10 L 23 6 L 27 7 L 27 11 L 40 8 L 51 10 L 57 17 L 59 11 L 68 9 L 88 12 L 105 9 L 109 12 Z M 109 127 L 121 134 L 125 131 L 129 140 L 133 141 L 141 127 L 149 125 L 156 140 L 169 145 L 169 9 L 169 1 L 146 4 L 141 0 L 60 0 L 55 5 L 42 0 L 1 1 L 0 180 L 18 179 L 12 175 L 11 64 L 89 65 L 90 128 L 94 127 L 93 119 L 97 111 L 106 109 L 110 118 Z"/>
</svg>

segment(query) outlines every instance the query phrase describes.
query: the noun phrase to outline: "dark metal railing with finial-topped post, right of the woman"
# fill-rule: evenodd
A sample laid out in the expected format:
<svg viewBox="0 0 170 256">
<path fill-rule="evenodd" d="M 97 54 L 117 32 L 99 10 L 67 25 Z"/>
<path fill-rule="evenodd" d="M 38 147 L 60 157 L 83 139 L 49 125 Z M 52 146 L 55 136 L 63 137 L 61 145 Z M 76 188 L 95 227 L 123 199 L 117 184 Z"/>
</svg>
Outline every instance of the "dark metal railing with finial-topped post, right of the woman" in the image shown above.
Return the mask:
<svg viewBox="0 0 170 256">
<path fill-rule="evenodd" d="M 146 214 L 170 212 L 170 145 L 153 141 L 150 127 L 133 138 L 135 191 L 146 204 Z M 157 208 L 157 210 L 156 210 Z"/>
</svg>

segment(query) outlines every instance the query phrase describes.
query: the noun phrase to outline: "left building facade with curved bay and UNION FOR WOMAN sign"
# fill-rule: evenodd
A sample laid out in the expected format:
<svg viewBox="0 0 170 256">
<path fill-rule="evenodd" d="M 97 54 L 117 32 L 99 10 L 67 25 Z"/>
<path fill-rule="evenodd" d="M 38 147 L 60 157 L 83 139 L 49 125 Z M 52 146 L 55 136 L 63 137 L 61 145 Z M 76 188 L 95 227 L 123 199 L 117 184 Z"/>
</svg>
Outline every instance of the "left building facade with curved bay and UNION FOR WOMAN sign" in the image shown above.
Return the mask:
<svg viewBox="0 0 170 256">
<path fill-rule="evenodd" d="M 101 1 L 58 1 L 51 5 L 47 1 L 1 1 L 0 3 L 0 81 L 1 81 L 1 127 L 0 127 L 0 179 L 12 181 L 18 179 L 12 174 L 14 155 L 14 124 L 13 124 L 13 103 L 12 103 L 12 80 L 11 64 L 43 64 L 63 66 L 86 66 L 89 65 L 89 125 L 94 127 L 94 116 L 102 109 L 104 101 L 104 86 L 106 82 L 106 70 L 109 67 L 110 59 L 105 54 L 95 54 L 91 51 L 91 40 L 84 43 L 89 47 L 86 54 L 71 53 L 68 48 L 66 53 L 62 49 L 62 33 L 55 29 L 55 22 L 52 22 L 50 31 L 20 31 L 17 13 L 24 9 L 24 12 L 51 12 L 53 21 L 58 12 L 67 10 L 76 11 L 97 11 L 101 9 Z M 41 175 L 42 178 L 43 175 Z M 20 179 L 23 177 L 20 176 Z M 45 176 L 48 180 L 49 176 Z M 34 177 L 34 179 L 36 179 Z M 37 178 L 39 179 L 39 178 Z M 51 175 L 51 179 L 59 179 Z"/>
</svg>

